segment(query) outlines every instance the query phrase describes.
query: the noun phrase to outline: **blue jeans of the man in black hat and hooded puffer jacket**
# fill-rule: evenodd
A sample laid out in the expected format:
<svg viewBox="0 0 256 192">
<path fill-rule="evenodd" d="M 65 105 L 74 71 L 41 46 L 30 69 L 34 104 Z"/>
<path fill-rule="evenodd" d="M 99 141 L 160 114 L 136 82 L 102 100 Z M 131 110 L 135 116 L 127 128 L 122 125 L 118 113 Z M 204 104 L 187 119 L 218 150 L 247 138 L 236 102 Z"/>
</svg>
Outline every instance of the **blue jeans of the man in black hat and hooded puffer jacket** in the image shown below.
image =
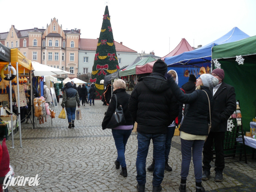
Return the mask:
<svg viewBox="0 0 256 192">
<path fill-rule="evenodd" d="M 153 153 L 155 154 L 155 169 L 153 172 L 153 186 L 158 186 L 162 183 L 164 178 L 164 166 L 165 166 L 165 140 L 166 134 L 146 134 L 139 133 L 137 135 L 138 151 L 136 159 L 137 169 L 137 182 L 139 185 L 146 183 L 146 157 L 148 154 L 148 147 L 150 141 L 153 141 Z"/>
</svg>

